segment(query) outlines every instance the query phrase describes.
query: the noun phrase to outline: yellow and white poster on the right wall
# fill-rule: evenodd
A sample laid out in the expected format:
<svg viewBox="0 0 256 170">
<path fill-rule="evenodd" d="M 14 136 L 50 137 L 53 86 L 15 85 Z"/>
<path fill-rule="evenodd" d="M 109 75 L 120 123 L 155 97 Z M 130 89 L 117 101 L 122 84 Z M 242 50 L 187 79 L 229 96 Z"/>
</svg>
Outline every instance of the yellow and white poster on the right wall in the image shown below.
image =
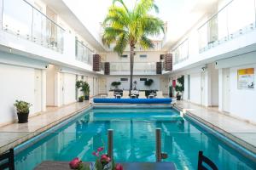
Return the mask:
<svg viewBox="0 0 256 170">
<path fill-rule="evenodd" d="M 254 88 L 254 68 L 241 69 L 237 71 L 237 88 Z"/>
</svg>

